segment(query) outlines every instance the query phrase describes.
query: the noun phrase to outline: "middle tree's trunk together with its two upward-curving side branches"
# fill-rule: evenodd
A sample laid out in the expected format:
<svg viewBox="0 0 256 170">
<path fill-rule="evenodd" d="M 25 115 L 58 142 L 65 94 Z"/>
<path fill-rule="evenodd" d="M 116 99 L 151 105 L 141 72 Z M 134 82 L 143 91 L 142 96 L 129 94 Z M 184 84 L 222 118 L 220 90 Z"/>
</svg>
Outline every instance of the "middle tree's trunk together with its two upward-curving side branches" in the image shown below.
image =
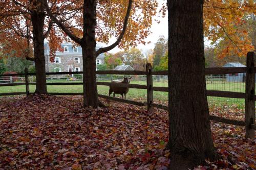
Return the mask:
<svg viewBox="0 0 256 170">
<path fill-rule="evenodd" d="M 96 9 L 97 2 L 96 0 L 83 1 L 83 36 L 79 38 L 72 34 L 70 30 L 63 25 L 63 23 L 56 18 L 49 8 L 47 1 L 44 0 L 46 4 L 46 10 L 51 17 L 51 19 L 65 32 L 73 41 L 80 44 L 82 47 L 82 58 L 83 58 L 83 105 L 84 107 L 92 106 L 98 107 L 99 105 L 103 106 L 99 102 L 97 84 L 96 84 L 96 57 L 101 54 L 112 50 L 117 46 L 122 37 L 124 36 L 130 12 L 132 9 L 132 0 L 129 0 L 129 5 L 127 8 L 126 15 L 124 17 L 123 29 L 120 33 L 120 36 L 117 38 L 110 46 L 99 48 L 96 52 L 96 38 L 95 38 L 95 29 L 96 29 Z"/>
</svg>

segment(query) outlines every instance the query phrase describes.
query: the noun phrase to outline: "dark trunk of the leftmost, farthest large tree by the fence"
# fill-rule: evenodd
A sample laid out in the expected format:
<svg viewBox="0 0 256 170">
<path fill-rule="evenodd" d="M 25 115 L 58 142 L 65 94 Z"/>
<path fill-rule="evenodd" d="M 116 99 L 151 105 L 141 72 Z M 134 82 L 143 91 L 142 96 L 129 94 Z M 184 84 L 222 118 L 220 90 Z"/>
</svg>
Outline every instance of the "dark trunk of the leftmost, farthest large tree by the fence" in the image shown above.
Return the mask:
<svg viewBox="0 0 256 170">
<path fill-rule="evenodd" d="M 44 54 L 44 6 L 39 4 L 38 10 L 31 11 L 31 21 L 33 25 L 34 58 L 36 70 L 36 90 L 35 93 L 47 94 L 46 86 L 46 65 Z"/>
</svg>

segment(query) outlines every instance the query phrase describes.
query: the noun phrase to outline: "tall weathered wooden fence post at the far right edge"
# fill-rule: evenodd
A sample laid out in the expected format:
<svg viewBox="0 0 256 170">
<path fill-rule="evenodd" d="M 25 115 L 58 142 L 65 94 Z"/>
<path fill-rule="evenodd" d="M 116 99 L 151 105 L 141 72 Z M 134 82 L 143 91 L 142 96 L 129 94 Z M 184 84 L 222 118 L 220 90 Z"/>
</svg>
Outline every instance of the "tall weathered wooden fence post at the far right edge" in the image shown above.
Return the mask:
<svg viewBox="0 0 256 170">
<path fill-rule="evenodd" d="M 255 53 L 248 52 L 246 56 L 246 82 L 245 82 L 245 137 L 254 139 L 254 129 L 250 124 L 255 122 L 255 102 L 252 95 L 255 94 L 255 73 L 251 67 L 255 66 Z"/>
</svg>

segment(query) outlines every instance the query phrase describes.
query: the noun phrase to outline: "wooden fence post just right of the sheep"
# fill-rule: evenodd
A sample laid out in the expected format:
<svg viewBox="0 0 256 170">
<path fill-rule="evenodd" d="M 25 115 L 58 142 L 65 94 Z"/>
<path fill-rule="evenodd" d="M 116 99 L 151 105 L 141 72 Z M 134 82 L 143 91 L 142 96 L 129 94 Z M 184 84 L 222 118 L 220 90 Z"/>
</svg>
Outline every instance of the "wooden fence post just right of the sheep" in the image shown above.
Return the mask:
<svg viewBox="0 0 256 170">
<path fill-rule="evenodd" d="M 148 113 L 153 113 L 153 78 L 152 78 L 152 65 L 150 63 L 146 64 L 146 86 L 147 86 L 147 111 Z"/>
</svg>

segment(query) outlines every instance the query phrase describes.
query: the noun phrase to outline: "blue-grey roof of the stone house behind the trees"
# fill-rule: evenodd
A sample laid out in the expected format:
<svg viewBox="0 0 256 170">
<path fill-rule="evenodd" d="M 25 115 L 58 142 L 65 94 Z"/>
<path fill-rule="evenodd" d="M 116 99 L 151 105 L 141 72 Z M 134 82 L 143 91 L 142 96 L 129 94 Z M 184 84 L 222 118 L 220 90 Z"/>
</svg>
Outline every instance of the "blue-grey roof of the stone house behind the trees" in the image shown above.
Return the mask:
<svg viewBox="0 0 256 170">
<path fill-rule="evenodd" d="M 71 55 L 71 56 L 82 56 L 82 48 L 81 46 L 74 46 L 72 43 L 68 42 L 68 43 L 61 43 L 61 46 L 67 46 L 68 47 L 68 52 L 59 52 L 56 51 L 56 56 L 65 56 L 65 55 Z M 45 55 L 49 55 L 50 54 L 50 47 L 49 47 L 49 43 L 44 43 L 44 47 L 45 47 Z M 74 52 L 74 47 L 77 47 L 77 52 Z M 96 50 L 99 49 L 99 46 L 96 46 Z M 102 53 L 100 54 L 97 58 L 105 58 L 105 55 Z"/>
</svg>

